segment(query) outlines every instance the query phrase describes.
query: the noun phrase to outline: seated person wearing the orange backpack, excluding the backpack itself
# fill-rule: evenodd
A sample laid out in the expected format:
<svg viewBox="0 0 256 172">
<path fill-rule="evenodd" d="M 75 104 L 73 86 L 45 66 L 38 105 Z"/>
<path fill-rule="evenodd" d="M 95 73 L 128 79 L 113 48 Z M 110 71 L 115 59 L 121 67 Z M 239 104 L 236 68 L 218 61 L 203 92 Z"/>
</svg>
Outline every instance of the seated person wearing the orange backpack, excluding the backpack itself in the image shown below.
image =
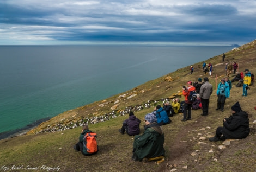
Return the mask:
<svg viewBox="0 0 256 172">
<path fill-rule="evenodd" d="M 80 133 L 80 137 L 79 137 L 79 142 L 74 145 L 74 149 L 76 151 L 80 151 L 81 150 L 82 154 L 86 155 L 86 156 L 87 155 L 94 155 L 94 154 L 96 154 L 99 151 L 99 146 L 97 146 L 97 151 L 94 152 L 93 154 L 87 152 L 86 147 L 83 145 L 83 142 L 86 142 L 86 141 L 83 141 L 83 138 L 86 135 L 86 133 L 88 133 L 88 132 L 92 132 L 92 131 L 89 130 L 88 125 L 83 125 L 82 126 L 82 132 Z M 86 145 L 86 143 L 84 143 L 84 144 Z"/>
</svg>

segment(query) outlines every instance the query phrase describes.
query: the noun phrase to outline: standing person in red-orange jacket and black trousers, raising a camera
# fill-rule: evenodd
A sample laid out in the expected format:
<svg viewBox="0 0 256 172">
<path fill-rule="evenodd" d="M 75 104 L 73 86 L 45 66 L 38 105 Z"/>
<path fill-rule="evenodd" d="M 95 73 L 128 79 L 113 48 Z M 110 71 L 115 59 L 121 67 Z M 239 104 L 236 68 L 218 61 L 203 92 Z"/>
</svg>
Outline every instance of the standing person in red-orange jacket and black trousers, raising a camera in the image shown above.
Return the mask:
<svg viewBox="0 0 256 172">
<path fill-rule="evenodd" d="M 187 81 L 187 87 L 183 86 L 183 91 L 182 94 L 185 97 L 185 103 L 184 103 L 184 111 L 183 111 L 183 119 L 181 121 L 187 121 L 191 120 L 191 107 L 192 107 L 192 102 L 188 100 L 188 94 L 190 91 L 196 91 L 196 88 L 192 86 L 192 81 Z"/>
</svg>

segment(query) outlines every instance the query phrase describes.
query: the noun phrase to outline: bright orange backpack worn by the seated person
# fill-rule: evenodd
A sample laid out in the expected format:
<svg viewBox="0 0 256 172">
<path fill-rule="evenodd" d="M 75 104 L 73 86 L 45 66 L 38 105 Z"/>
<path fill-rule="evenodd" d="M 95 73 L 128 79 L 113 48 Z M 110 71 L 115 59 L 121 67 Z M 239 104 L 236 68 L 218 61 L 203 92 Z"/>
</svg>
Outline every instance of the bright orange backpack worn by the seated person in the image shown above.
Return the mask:
<svg viewBox="0 0 256 172">
<path fill-rule="evenodd" d="M 97 152 L 97 134 L 94 132 L 88 132 L 83 137 L 83 146 L 86 147 L 87 152 L 93 154 Z M 85 144 L 86 143 L 86 144 Z"/>
</svg>

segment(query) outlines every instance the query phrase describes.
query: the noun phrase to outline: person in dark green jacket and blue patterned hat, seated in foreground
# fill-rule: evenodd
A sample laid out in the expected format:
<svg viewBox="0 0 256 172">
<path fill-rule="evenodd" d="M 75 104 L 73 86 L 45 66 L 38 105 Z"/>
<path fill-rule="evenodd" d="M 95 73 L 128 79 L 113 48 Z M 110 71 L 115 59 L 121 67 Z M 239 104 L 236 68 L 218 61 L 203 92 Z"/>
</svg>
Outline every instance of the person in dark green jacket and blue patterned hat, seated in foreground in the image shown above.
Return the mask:
<svg viewBox="0 0 256 172">
<path fill-rule="evenodd" d="M 163 148 L 164 134 L 162 126 L 156 122 L 153 113 L 145 115 L 145 126 L 142 135 L 135 136 L 133 142 L 133 161 L 142 161 L 143 158 L 165 156 Z"/>
</svg>

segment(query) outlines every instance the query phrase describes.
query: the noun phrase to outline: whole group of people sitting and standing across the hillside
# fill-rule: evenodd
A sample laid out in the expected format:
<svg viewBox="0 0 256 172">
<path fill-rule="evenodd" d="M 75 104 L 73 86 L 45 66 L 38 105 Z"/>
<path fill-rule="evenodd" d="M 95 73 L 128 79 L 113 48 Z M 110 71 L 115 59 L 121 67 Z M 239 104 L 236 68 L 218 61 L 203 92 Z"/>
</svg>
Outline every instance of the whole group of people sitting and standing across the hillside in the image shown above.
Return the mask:
<svg viewBox="0 0 256 172">
<path fill-rule="evenodd" d="M 244 72 L 243 96 L 247 96 L 248 85 L 251 83 L 251 75 L 248 69 Z M 186 85 L 187 86 L 182 87 L 182 94 L 184 95 L 185 100 L 183 118 L 181 121 L 185 122 L 192 119 L 191 109 L 202 109 L 201 115 L 208 116 L 210 96 L 213 92 L 212 85 L 209 83 L 208 77 L 205 77 L 203 81 L 201 78 L 198 78 L 198 81 L 194 83 L 192 83 L 192 81 L 188 81 Z M 216 110 L 221 110 L 223 112 L 225 99 L 229 98 L 231 88 L 231 81 L 229 81 L 228 77 L 221 79 L 216 93 L 218 97 Z M 191 101 L 191 92 L 196 92 L 196 100 Z M 179 98 L 173 99 L 172 104 L 170 104 L 169 101 L 164 102 L 163 107 L 161 107 L 161 105 L 157 105 L 153 112 L 145 115 L 144 132 L 142 135 L 139 135 L 141 132 L 139 128 L 141 120 L 139 120 L 133 112 L 129 113 L 129 118 L 124 120 L 119 132 L 121 134 L 126 132 L 129 136 L 135 136 L 131 157 L 133 161 L 142 161 L 145 157 L 154 158 L 165 156 L 165 150 L 163 148 L 164 132 L 162 126 L 172 122 L 169 117 L 174 113 L 179 113 L 180 107 L 181 104 Z M 215 136 L 209 138 L 209 141 L 224 141 L 225 139 L 232 138 L 239 139 L 245 138 L 249 135 L 250 129 L 248 114 L 247 112 L 242 111 L 239 102 L 231 107 L 231 113 L 232 114 L 229 118 L 223 119 L 223 127 L 218 127 Z M 98 147 L 95 148 L 96 150 L 93 154 L 88 152 L 86 139 L 84 139 L 87 133 L 92 133 L 92 131 L 89 130 L 88 125 L 85 125 L 82 127 L 79 142 L 74 145 L 74 149 L 76 151 L 81 150 L 83 155 L 96 154 L 99 150 Z"/>
</svg>

